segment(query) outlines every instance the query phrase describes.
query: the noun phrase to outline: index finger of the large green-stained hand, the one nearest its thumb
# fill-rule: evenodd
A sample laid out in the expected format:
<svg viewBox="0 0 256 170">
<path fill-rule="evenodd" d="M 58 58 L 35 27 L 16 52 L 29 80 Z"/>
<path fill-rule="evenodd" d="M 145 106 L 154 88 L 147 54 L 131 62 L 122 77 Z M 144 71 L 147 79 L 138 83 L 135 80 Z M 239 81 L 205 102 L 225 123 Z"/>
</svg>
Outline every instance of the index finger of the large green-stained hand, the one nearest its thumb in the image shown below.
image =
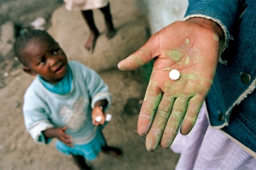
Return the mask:
<svg viewBox="0 0 256 170">
<path fill-rule="evenodd" d="M 146 135 L 150 129 L 155 111 L 162 98 L 162 91 L 158 88 L 157 83 L 150 80 L 147 86 L 147 91 L 142 103 L 141 112 L 138 118 L 138 134 Z"/>
</svg>

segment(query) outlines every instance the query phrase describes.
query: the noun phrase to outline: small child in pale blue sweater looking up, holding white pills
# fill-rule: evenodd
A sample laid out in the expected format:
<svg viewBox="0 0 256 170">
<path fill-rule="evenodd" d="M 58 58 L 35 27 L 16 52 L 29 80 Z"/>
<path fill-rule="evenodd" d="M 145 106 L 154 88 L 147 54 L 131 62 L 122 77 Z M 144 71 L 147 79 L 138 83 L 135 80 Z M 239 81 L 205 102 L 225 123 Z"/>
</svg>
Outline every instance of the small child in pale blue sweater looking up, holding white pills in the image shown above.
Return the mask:
<svg viewBox="0 0 256 170">
<path fill-rule="evenodd" d="M 121 158 L 122 152 L 106 145 L 102 135 L 112 96 L 100 76 L 77 61 L 68 62 L 46 31 L 23 33 L 14 50 L 23 70 L 35 76 L 23 105 L 24 122 L 35 142 L 48 144 L 57 138 L 57 150 L 71 154 L 81 169 L 90 169 L 85 160 L 95 159 L 101 150 Z"/>
</svg>

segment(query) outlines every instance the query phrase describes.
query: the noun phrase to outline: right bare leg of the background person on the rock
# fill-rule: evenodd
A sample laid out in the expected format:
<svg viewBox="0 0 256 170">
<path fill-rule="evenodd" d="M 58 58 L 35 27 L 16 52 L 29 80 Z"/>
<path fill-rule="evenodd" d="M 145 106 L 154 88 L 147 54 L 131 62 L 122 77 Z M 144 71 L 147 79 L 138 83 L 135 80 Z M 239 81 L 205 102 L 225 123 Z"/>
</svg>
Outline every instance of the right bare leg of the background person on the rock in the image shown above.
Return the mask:
<svg viewBox="0 0 256 170">
<path fill-rule="evenodd" d="M 107 6 L 100 8 L 101 12 L 104 14 L 105 17 L 105 25 L 106 25 L 106 37 L 111 39 L 114 37 L 116 31 L 113 25 L 112 15 L 110 13 L 110 5 L 108 3 Z"/>
</svg>

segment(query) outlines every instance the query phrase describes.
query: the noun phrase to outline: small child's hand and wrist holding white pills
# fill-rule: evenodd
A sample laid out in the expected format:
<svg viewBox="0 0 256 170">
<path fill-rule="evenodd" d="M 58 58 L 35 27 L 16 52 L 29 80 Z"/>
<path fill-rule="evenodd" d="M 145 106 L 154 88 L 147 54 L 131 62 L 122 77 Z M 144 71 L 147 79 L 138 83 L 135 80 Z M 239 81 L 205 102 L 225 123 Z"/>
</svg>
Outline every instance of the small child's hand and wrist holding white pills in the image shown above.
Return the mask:
<svg viewBox="0 0 256 170">
<path fill-rule="evenodd" d="M 99 100 L 95 103 L 93 111 L 92 111 L 92 119 L 93 119 L 93 125 L 103 125 L 105 123 L 105 112 L 104 108 L 108 105 L 108 100 Z M 101 120 L 97 121 L 96 117 L 100 116 Z"/>
</svg>

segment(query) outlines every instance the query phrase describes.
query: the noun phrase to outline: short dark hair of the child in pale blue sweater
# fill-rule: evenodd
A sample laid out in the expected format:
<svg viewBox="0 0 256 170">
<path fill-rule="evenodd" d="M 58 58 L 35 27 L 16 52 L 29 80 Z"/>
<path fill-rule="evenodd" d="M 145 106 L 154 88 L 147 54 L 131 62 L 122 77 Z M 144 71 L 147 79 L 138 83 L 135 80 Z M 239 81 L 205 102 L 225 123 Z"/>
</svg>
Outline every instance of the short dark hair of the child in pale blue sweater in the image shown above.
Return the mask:
<svg viewBox="0 0 256 170">
<path fill-rule="evenodd" d="M 31 31 L 26 31 L 22 35 L 20 35 L 15 43 L 14 43 L 14 53 L 16 57 L 18 57 L 19 61 L 26 66 L 27 63 L 24 59 L 24 56 L 22 55 L 22 50 L 26 48 L 27 42 L 29 42 L 31 39 L 35 38 L 43 38 L 49 42 L 55 42 L 55 40 L 48 34 L 46 31 L 42 31 L 39 29 L 33 29 Z"/>
</svg>

